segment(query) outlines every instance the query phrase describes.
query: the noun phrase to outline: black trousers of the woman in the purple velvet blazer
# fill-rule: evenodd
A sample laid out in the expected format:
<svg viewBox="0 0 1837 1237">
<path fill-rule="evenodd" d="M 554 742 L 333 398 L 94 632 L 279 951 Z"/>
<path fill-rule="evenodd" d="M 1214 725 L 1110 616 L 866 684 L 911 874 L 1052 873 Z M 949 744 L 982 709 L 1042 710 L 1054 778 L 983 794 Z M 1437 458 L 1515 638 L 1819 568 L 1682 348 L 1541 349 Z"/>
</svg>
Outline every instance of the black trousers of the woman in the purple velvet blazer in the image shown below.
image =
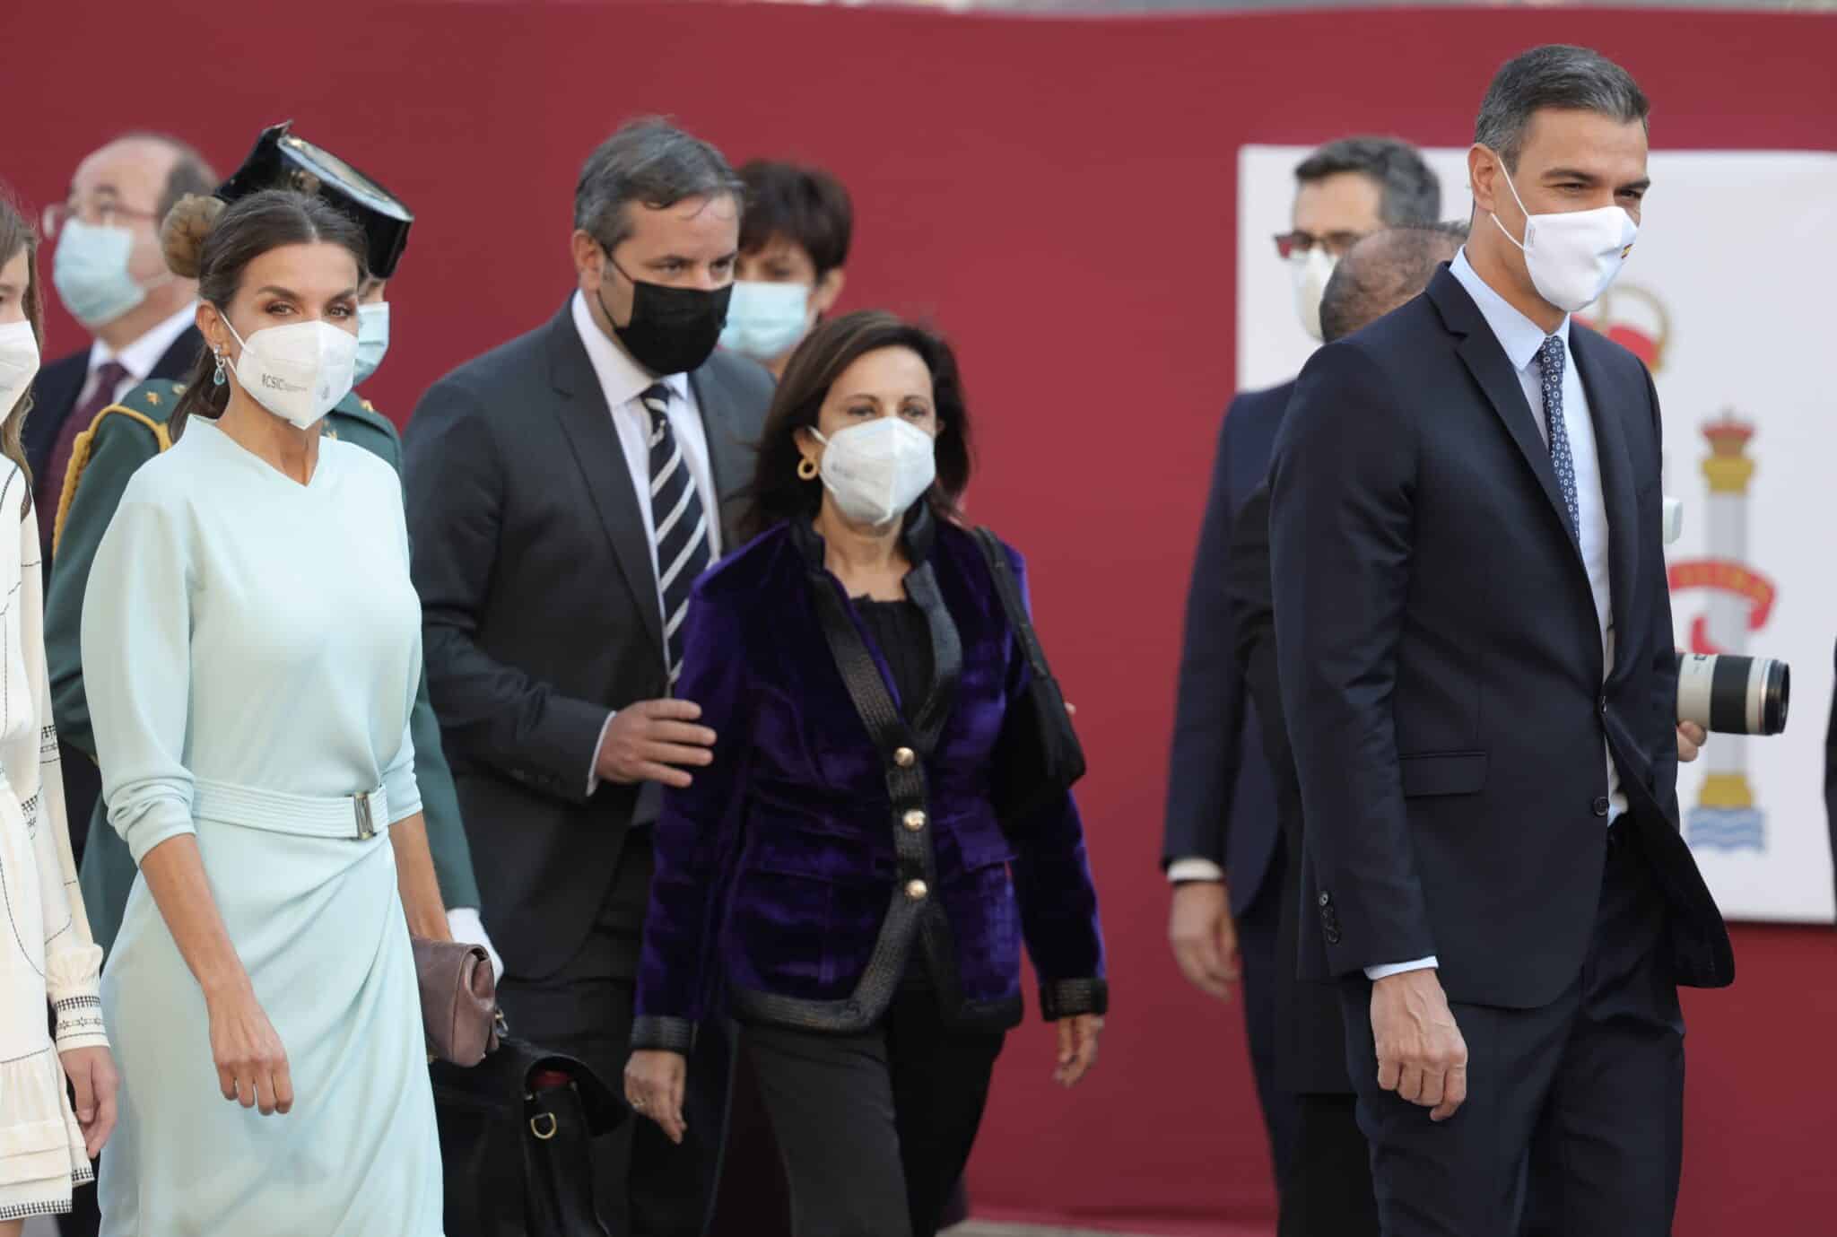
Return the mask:
<svg viewBox="0 0 1837 1237">
<path fill-rule="evenodd" d="M 740 1031 L 792 1193 L 795 1237 L 931 1237 L 970 1160 L 1001 1031 L 944 1026 L 907 983 L 873 1031 Z"/>
</svg>

